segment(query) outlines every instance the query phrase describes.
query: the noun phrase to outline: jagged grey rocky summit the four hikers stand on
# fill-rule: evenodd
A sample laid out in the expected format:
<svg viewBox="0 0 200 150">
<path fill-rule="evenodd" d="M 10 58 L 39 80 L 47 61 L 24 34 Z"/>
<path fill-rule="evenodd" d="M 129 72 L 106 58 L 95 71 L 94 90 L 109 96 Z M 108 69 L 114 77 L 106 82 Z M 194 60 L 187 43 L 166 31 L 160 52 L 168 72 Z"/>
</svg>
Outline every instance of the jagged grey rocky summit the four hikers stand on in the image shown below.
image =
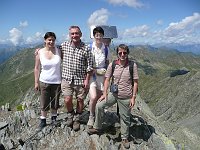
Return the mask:
<svg viewBox="0 0 200 150">
<path fill-rule="evenodd" d="M 32 93 L 33 94 L 33 93 Z M 30 98 L 30 94 L 27 94 Z M 4 122 L 0 130 L 0 141 L 5 149 L 23 150 L 50 150 L 50 149 L 124 149 L 120 139 L 120 125 L 113 106 L 105 112 L 104 132 L 101 135 L 89 135 L 87 133 L 87 119 L 89 117 L 87 107 L 81 116 L 81 128 L 75 132 L 66 126 L 66 113 L 61 104 L 56 125 L 51 125 L 47 119 L 47 127 L 37 131 L 39 124 L 39 111 L 36 109 L 38 98 L 34 95 L 30 103 L 20 111 L 2 111 L 1 122 Z M 26 97 L 25 97 L 26 99 Z M 61 103 L 63 99 L 61 98 Z M 86 102 L 87 103 L 87 102 Z M 137 97 L 137 103 L 132 110 L 130 127 L 130 149 L 144 150 L 173 150 L 180 149 L 181 143 L 176 139 L 166 136 L 163 125 L 153 115 L 149 107 Z"/>
</svg>

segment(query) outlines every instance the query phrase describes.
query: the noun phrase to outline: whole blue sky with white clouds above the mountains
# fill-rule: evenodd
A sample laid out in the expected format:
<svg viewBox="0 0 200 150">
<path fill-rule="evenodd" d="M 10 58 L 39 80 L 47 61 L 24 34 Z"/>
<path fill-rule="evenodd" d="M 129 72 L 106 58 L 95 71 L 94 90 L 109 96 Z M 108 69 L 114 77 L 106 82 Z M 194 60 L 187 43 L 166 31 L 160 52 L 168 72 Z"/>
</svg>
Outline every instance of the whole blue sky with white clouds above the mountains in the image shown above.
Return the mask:
<svg viewBox="0 0 200 150">
<path fill-rule="evenodd" d="M 62 42 L 71 25 L 85 42 L 91 25 L 111 25 L 113 42 L 200 44 L 199 0 L 1 0 L 0 14 L 0 44 L 43 42 L 47 31 Z"/>
</svg>

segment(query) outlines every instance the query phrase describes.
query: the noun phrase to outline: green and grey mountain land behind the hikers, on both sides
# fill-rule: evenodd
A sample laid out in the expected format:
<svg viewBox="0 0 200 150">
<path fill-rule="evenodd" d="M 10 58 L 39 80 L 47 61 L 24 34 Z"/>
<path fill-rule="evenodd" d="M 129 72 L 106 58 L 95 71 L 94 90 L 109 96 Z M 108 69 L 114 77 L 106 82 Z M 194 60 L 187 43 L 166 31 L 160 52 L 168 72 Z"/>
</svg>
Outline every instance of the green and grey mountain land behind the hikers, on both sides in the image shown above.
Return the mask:
<svg viewBox="0 0 200 150">
<path fill-rule="evenodd" d="M 24 99 L 38 100 L 33 94 L 34 51 L 35 48 L 20 51 L 0 65 L 0 105 L 10 103 L 11 109 L 16 109 Z M 116 57 L 113 50 L 111 53 L 113 58 Z M 195 147 L 189 137 L 182 136 L 188 133 L 192 137 L 197 136 L 197 139 L 200 137 L 198 128 L 194 128 L 195 124 L 200 123 L 200 56 L 169 49 L 133 46 L 130 47 L 130 57 L 138 64 L 139 95 L 145 102 L 144 105 L 149 107 L 148 111 L 144 107 L 146 114 L 154 115 L 152 119 L 156 122 L 152 124 L 156 126 L 159 123 L 165 130 L 158 130 L 171 139 L 174 138 L 175 143 Z M 176 72 L 181 69 L 189 72 Z M 175 73 L 173 77 L 171 73 Z M 29 95 L 28 98 L 26 95 Z M 191 121 L 190 124 L 187 123 L 188 120 Z"/>
</svg>

